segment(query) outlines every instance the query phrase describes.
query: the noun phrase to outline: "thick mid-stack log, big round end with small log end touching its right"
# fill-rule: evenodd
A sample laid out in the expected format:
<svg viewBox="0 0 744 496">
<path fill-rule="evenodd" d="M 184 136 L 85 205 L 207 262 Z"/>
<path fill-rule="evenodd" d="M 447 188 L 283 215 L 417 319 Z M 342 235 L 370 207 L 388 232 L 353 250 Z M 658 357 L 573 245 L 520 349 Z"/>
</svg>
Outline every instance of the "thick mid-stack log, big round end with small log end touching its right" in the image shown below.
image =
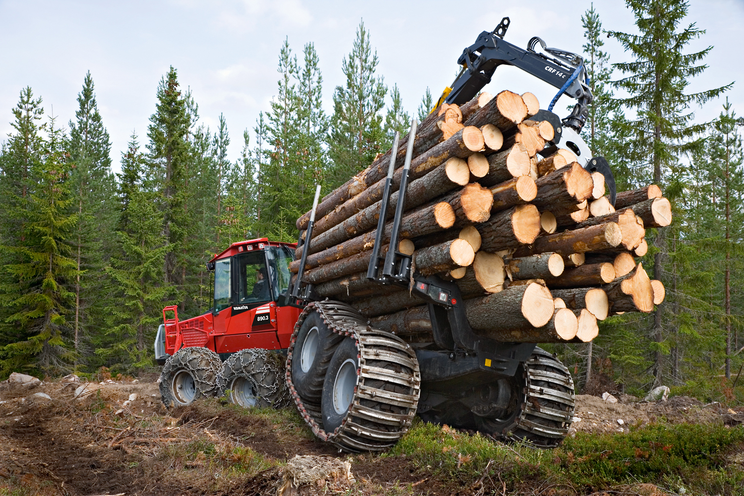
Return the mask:
<svg viewBox="0 0 744 496">
<path fill-rule="evenodd" d="M 495 253 L 535 241 L 540 233 L 540 213 L 532 204 L 516 205 L 494 213 L 475 228 L 481 233 L 481 250 Z"/>
</svg>

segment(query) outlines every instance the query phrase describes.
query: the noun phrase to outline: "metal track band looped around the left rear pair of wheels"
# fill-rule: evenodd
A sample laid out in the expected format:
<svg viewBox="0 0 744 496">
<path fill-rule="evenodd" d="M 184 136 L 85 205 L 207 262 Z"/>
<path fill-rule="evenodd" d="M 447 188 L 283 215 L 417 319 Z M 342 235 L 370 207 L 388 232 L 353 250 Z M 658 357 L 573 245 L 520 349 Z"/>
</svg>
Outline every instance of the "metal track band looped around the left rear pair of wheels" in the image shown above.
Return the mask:
<svg viewBox="0 0 744 496">
<path fill-rule="evenodd" d="M 295 340 L 305 318 L 315 311 L 318 311 L 332 332 L 353 338 L 356 349 L 359 350 L 357 385 L 350 408 L 341 421 L 341 426 L 330 433 L 321 427 L 323 419 L 320 405 L 304 402 L 292 384 L 292 351 Z M 396 373 L 382 367 L 368 366 L 367 360 L 388 361 L 408 368 L 411 373 Z M 382 380 L 384 384 L 392 387 L 403 385 L 409 387 L 411 393 L 394 393 L 379 387 L 371 387 L 365 384 L 369 379 Z M 405 341 L 388 332 L 372 329 L 367 320 L 346 303 L 324 301 L 309 303 L 295 323 L 295 331 L 287 350 L 286 383 L 300 415 L 315 436 L 345 451 L 382 451 L 394 445 L 411 427 L 420 396 L 421 374 L 416 353 Z M 361 405 L 360 400 L 373 400 L 388 407 L 388 411 Z M 389 410 L 401 410 L 402 413 L 392 413 Z M 365 424 L 371 423 L 373 426 L 360 425 L 355 419 L 360 419 Z"/>
</svg>

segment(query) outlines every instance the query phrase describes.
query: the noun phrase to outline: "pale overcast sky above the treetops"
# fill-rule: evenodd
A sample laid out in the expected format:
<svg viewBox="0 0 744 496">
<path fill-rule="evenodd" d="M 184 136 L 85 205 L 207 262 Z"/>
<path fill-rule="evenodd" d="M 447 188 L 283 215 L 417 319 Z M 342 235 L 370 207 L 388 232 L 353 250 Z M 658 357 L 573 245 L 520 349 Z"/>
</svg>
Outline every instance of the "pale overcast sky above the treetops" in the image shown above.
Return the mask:
<svg viewBox="0 0 744 496">
<path fill-rule="evenodd" d="M 379 57 L 378 74 L 397 83 L 403 105 L 415 111 L 426 88 L 437 96 L 452 83 L 457 59 L 482 30 L 493 30 L 504 16 L 505 39 L 526 47 L 540 36 L 549 47 L 581 52 L 581 14 L 590 1 L 307 1 L 307 0 L 0 0 L 0 141 L 11 132 L 10 109 L 19 91 L 31 86 L 43 98 L 47 115 L 62 123 L 74 118 L 77 93 L 86 71 L 95 83 L 98 107 L 112 139 L 114 169 L 132 132 L 147 141 L 158 81 L 173 65 L 190 87 L 201 120 L 215 128 L 225 115 L 231 135 L 229 155 L 240 155 L 243 129 L 252 129 L 276 93 L 280 46 L 301 55 L 315 43 L 324 78 L 324 106 L 333 108 L 333 88 L 344 82 L 341 59 L 360 20 L 371 33 Z M 603 28 L 635 32 L 624 1 L 597 0 Z M 744 115 L 744 55 L 740 48 L 744 0 L 690 0 L 687 22 L 708 32 L 687 47 L 713 45 L 710 67 L 690 91 L 724 86 L 738 115 Z M 605 48 L 612 62 L 629 60 L 614 39 Z M 486 90 L 533 91 L 542 108 L 556 93 L 552 86 L 521 71 L 501 67 Z M 565 116 L 569 100 L 556 106 Z M 696 119 L 721 112 L 722 100 L 696 109 Z M 252 132 L 251 132 L 252 138 Z"/>
</svg>

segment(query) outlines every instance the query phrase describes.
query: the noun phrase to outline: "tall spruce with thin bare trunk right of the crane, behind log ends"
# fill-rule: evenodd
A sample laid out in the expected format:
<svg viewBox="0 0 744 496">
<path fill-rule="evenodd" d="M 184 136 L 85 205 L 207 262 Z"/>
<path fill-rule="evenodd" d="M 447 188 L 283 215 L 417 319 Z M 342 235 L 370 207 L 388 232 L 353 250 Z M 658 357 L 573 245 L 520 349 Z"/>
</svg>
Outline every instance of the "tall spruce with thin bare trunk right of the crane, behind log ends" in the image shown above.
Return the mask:
<svg viewBox="0 0 744 496">
<path fill-rule="evenodd" d="M 693 54 L 682 50 L 693 39 L 705 33 L 695 24 L 678 30 L 687 16 L 688 4 L 683 0 L 626 0 L 626 5 L 635 16 L 639 34 L 611 31 L 609 34 L 620 41 L 632 54 L 632 62 L 613 64 L 626 74 L 614 83 L 615 87 L 629 93 L 618 99 L 618 103 L 637 112 L 635 120 L 624 123 L 623 132 L 629 137 L 626 145 L 629 158 L 643 167 L 640 181 L 650 181 L 663 186 L 674 174 L 679 174 L 679 153 L 699 146 L 694 140 L 704 132 L 705 124 L 693 124 L 693 104 L 702 105 L 730 87 L 723 86 L 708 91 L 685 93 L 690 78 L 705 70 L 700 62 L 711 51 L 705 48 Z M 668 195 L 667 195 L 668 196 Z M 662 278 L 662 254 L 666 251 L 663 230 L 658 231 L 654 256 L 654 279 Z M 664 339 L 662 313 L 664 304 L 658 306 L 652 324 L 652 351 L 654 353 L 655 383 L 663 381 L 664 356 L 669 345 Z"/>
</svg>

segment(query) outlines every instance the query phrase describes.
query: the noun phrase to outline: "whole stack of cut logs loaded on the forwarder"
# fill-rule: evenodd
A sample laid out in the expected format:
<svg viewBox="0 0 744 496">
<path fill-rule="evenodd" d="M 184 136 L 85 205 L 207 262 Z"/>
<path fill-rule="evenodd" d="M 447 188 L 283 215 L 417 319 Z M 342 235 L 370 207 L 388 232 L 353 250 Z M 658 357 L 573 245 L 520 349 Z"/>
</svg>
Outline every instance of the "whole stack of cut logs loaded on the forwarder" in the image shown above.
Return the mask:
<svg viewBox="0 0 744 496">
<path fill-rule="evenodd" d="M 664 300 L 664 286 L 636 259 L 648 249 L 645 230 L 670 224 L 670 203 L 652 184 L 618 193 L 613 206 L 604 176 L 581 167 L 574 152 L 543 157 L 555 131 L 530 120 L 538 110 L 533 94 L 501 91 L 461 107 L 444 103 L 426 117 L 414 137 L 396 248 L 412 256 L 415 271 L 457 282 L 478 335 L 589 342 L 597 321 L 651 312 Z M 395 157 L 389 216 L 409 139 Z M 318 204 L 303 280 L 356 307 L 373 327 L 424 343 L 432 325 L 423 300 L 366 277 L 390 154 Z M 301 216 L 298 229 L 309 220 Z M 391 228 L 388 221 L 381 256 Z M 299 261 L 291 268 L 298 272 Z"/>
</svg>

